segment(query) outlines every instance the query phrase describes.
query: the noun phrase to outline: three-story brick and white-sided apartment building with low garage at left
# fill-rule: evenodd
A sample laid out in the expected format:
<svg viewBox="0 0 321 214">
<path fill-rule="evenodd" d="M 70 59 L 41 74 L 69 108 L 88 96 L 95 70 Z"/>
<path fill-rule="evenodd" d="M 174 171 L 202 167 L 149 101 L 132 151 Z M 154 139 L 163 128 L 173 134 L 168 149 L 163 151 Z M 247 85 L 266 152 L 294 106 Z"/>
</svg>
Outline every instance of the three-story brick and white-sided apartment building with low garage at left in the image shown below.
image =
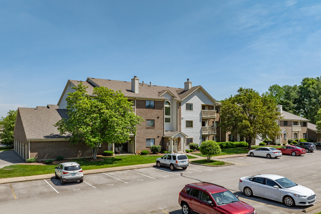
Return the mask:
<svg viewBox="0 0 321 214">
<path fill-rule="evenodd" d="M 87 78 L 86 81 L 68 80 L 57 105 L 18 108 L 14 131 L 17 153 L 25 159 L 50 159 L 59 154 L 64 154 L 66 158 L 91 156 L 91 148 L 69 145 L 69 141 L 65 140 L 68 136 L 61 136 L 52 126 L 66 117 L 67 93 L 73 92 L 72 87 L 80 82 L 88 86 L 86 90 L 90 95 L 94 87 L 100 86 L 121 90 L 133 103 L 130 111 L 144 119 L 142 124 L 137 125 L 136 135 L 130 134 L 130 141 L 109 145 L 103 143 L 98 154 L 104 150 L 114 151 L 115 147 L 137 154 L 149 150 L 152 145 L 161 145 L 162 150 L 181 151 L 189 149 L 191 142 L 200 145 L 208 139 L 221 140 L 221 132 L 217 130 L 221 103 L 202 86 L 192 86 L 189 79 L 182 82 L 184 87 L 175 88 L 152 85 L 151 82 L 146 84 L 136 76 L 131 81 Z"/>
</svg>

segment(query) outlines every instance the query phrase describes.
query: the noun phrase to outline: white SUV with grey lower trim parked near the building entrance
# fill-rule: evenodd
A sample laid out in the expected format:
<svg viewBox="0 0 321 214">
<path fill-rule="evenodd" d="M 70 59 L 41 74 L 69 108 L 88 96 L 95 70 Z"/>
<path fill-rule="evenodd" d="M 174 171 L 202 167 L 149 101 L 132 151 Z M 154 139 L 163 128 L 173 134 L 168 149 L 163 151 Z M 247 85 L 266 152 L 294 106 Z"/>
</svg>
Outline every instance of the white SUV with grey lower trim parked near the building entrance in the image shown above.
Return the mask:
<svg viewBox="0 0 321 214">
<path fill-rule="evenodd" d="M 169 167 L 170 170 L 175 170 L 177 167 L 182 167 L 186 169 L 188 167 L 188 158 L 184 154 L 180 153 L 170 153 L 166 154 L 161 158 L 156 159 L 156 166 L 166 166 Z"/>
</svg>

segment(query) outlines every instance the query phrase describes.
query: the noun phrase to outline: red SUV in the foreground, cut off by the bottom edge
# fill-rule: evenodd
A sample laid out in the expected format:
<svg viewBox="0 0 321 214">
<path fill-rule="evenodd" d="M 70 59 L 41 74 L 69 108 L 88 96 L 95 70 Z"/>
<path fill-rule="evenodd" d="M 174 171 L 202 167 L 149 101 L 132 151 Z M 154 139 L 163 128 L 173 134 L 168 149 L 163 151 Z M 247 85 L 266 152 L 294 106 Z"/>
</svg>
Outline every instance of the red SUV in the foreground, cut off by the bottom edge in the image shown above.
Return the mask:
<svg viewBox="0 0 321 214">
<path fill-rule="evenodd" d="M 187 184 L 179 193 L 184 214 L 256 214 L 255 209 L 222 186 L 207 182 Z"/>
</svg>

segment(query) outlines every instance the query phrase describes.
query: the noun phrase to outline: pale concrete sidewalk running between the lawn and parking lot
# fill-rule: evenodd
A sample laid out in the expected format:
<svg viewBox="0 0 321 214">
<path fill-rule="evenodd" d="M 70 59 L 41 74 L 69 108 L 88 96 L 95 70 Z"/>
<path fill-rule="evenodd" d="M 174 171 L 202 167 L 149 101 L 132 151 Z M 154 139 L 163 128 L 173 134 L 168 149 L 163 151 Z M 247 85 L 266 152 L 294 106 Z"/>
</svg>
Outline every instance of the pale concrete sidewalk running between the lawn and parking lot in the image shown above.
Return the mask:
<svg viewBox="0 0 321 214">
<path fill-rule="evenodd" d="M 180 153 L 196 157 L 196 158 L 193 158 L 192 160 L 204 159 L 204 157 L 197 156 L 194 154 L 185 153 L 185 152 L 180 152 Z M 216 160 L 216 159 L 222 159 L 222 158 L 241 157 L 241 156 L 246 156 L 246 155 L 247 154 L 222 155 L 222 156 L 212 157 L 211 159 Z M 123 167 L 110 167 L 110 168 L 103 168 L 103 169 L 84 170 L 83 174 L 90 175 L 90 174 L 96 174 L 96 173 L 114 172 L 114 171 L 121 171 L 121 170 L 128 170 L 128 169 L 140 169 L 140 168 L 147 168 L 147 167 L 153 167 L 153 166 L 156 166 L 156 161 L 155 161 L 155 163 L 150 163 L 150 164 L 139 164 L 139 165 L 131 165 L 131 166 L 123 166 Z M 23 176 L 23 177 L 1 178 L 0 184 L 43 180 L 43 179 L 54 178 L 54 177 L 55 177 L 55 173 L 46 174 L 46 175 L 31 175 L 31 176 Z"/>
</svg>

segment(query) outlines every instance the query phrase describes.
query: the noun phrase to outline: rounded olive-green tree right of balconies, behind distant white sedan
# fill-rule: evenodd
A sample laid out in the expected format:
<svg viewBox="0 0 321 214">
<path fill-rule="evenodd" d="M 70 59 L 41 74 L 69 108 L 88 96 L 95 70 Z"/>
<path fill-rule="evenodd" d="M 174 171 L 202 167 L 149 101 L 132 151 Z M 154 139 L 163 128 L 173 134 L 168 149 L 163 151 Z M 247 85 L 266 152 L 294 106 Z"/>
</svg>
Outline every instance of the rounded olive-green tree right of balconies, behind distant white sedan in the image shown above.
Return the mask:
<svg viewBox="0 0 321 214">
<path fill-rule="evenodd" d="M 281 131 L 276 122 L 281 114 L 274 99 L 253 89 L 239 88 L 238 94 L 225 99 L 220 118 L 223 130 L 246 137 L 248 149 L 253 138 L 260 135 L 274 138 Z"/>
</svg>

